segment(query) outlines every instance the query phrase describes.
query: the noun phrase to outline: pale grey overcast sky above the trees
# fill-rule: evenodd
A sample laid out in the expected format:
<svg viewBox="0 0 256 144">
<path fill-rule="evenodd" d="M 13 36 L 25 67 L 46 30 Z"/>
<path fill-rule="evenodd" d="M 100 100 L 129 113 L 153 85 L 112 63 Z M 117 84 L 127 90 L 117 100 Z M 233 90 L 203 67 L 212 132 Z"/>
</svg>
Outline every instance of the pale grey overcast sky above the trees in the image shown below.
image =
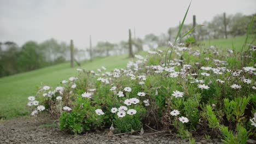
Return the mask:
<svg viewBox="0 0 256 144">
<path fill-rule="evenodd" d="M 38 43 L 50 38 L 69 43 L 79 49 L 108 40 L 127 40 L 128 29 L 136 29 L 136 37 L 148 33 L 166 33 L 183 19 L 190 0 L 0 0 L 0 41 L 19 45 L 28 40 Z M 188 19 L 196 15 L 197 23 L 210 21 L 214 15 L 256 13 L 256 0 L 194 0 Z"/>
</svg>

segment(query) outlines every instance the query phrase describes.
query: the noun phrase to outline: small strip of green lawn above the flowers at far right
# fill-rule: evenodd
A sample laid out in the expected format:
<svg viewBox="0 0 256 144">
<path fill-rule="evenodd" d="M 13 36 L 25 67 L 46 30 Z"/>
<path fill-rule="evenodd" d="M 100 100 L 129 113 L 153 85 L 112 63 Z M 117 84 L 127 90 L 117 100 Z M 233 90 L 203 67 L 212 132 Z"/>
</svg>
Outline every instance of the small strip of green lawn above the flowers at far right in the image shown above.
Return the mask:
<svg viewBox="0 0 256 144">
<path fill-rule="evenodd" d="M 235 38 L 228 38 L 228 39 L 214 39 L 214 40 L 204 40 L 201 41 L 201 44 L 205 44 L 206 47 L 211 45 L 217 46 L 219 49 L 231 49 L 232 50 L 232 43 L 234 44 L 235 50 L 241 50 L 243 44 L 245 43 L 245 36 L 239 36 Z M 255 43 L 255 36 L 250 35 L 247 44 L 251 44 L 254 40 Z"/>
</svg>

